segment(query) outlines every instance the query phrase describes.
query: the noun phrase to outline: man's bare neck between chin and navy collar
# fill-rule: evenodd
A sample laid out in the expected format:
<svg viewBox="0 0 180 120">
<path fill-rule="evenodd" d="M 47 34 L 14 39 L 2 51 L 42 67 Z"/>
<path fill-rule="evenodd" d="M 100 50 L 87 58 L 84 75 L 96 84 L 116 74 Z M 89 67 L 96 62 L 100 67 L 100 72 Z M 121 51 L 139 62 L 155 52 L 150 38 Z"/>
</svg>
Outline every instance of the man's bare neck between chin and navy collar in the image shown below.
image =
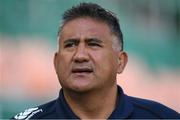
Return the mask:
<svg viewBox="0 0 180 120">
<path fill-rule="evenodd" d="M 110 89 L 74 93 L 64 90 L 72 111 L 81 119 L 106 119 L 116 106 L 117 85 Z M 108 109 L 107 109 L 108 108 Z"/>
</svg>

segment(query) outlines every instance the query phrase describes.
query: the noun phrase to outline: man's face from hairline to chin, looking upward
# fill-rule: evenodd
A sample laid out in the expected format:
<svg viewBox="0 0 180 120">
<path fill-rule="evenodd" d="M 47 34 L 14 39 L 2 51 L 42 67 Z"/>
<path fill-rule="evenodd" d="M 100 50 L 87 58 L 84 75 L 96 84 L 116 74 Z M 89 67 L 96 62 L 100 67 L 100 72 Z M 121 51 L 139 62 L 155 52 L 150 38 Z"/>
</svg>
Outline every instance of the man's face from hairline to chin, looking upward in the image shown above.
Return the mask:
<svg viewBox="0 0 180 120">
<path fill-rule="evenodd" d="M 77 18 L 62 29 L 54 64 L 61 86 L 84 92 L 116 85 L 120 52 L 113 49 L 107 24 L 91 18 Z"/>
</svg>

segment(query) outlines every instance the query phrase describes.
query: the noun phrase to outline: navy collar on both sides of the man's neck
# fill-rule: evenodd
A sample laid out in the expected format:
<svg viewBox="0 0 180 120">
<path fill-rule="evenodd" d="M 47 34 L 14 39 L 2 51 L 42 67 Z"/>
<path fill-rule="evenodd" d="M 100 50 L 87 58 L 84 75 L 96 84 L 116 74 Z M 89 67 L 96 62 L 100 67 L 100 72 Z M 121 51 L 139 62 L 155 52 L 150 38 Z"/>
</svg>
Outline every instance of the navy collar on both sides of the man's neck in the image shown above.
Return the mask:
<svg viewBox="0 0 180 120">
<path fill-rule="evenodd" d="M 128 96 L 124 94 L 120 86 L 117 86 L 117 89 L 117 105 L 114 111 L 111 113 L 109 119 L 128 118 L 133 112 L 133 105 L 128 99 Z M 56 101 L 56 113 L 58 118 L 78 119 L 78 117 L 73 113 L 72 109 L 67 104 L 62 89 L 60 90 L 59 97 Z"/>
</svg>

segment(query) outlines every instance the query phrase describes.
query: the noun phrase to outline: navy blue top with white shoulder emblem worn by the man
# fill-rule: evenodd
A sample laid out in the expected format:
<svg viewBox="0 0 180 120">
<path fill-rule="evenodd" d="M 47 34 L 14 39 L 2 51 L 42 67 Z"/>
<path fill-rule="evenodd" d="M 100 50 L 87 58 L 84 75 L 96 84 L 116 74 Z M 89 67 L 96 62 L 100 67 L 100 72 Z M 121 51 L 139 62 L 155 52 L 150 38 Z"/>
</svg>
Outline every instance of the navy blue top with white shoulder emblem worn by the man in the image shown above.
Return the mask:
<svg viewBox="0 0 180 120">
<path fill-rule="evenodd" d="M 180 114 L 160 103 L 127 96 L 118 86 L 118 103 L 109 119 L 119 118 L 180 119 Z M 78 116 L 72 112 L 61 89 L 56 100 L 27 109 L 14 116 L 13 119 L 78 119 Z"/>
</svg>

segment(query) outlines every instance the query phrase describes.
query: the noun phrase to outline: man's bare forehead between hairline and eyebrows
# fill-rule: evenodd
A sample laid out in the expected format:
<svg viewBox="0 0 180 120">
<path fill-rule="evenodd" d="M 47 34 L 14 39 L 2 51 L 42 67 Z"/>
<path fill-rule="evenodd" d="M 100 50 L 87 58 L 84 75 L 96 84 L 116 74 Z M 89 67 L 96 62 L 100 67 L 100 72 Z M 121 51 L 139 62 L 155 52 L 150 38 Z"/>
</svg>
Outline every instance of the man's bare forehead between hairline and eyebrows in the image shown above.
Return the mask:
<svg viewBox="0 0 180 120">
<path fill-rule="evenodd" d="M 110 37 L 109 26 L 93 18 L 76 18 L 68 21 L 62 28 L 60 38 Z"/>
</svg>

